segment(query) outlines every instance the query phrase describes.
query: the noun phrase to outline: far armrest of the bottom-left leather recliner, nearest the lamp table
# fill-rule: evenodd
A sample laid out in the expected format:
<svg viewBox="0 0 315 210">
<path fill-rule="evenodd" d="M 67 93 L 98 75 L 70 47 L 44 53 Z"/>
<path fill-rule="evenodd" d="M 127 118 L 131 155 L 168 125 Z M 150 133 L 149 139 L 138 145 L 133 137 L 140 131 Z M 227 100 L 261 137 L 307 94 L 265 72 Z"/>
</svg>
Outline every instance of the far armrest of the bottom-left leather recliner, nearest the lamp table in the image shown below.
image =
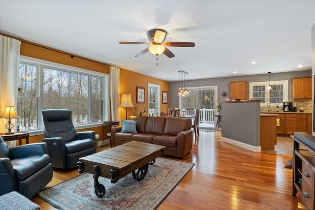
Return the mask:
<svg viewBox="0 0 315 210">
<path fill-rule="evenodd" d="M 27 157 L 33 154 L 47 154 L 46 143 L 33 143 L 29 145 L 21 145 L 9 149 L 12 154 L 12 159 Z"/>
</svg>

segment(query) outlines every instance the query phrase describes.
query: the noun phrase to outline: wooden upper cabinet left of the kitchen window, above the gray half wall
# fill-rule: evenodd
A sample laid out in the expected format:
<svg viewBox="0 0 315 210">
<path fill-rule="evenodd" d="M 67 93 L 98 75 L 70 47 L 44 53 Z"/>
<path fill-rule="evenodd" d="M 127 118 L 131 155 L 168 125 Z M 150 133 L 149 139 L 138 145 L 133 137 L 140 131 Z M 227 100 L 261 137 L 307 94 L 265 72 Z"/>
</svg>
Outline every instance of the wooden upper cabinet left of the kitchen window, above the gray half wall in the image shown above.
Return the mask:
<svg viewBox="0 0 315 210">
<path fill-rule="evenodd" d="M 242 98 L 249 99 L 249 83 L 247 81 L 230 82 L 230 99 Z"/>
</svg>

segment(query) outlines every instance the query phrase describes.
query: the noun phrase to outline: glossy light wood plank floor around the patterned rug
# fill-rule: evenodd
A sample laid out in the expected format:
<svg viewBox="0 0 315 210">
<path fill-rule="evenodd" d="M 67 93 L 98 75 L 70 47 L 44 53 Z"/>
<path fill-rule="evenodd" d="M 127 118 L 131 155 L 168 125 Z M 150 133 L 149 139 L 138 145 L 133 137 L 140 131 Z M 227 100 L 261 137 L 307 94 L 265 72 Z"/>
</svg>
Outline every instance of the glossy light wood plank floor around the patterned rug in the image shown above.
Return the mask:
<svg viewBox="0 0 315 210">
<path fill-rule="evenodd" d="M 220 131 L 202 131 L 194 139 L 192 151 L 181 160 L 196 165 L 158 210 L 306 209 L 300 195 L 293 197 L 291 193 L 292 170 L 284 168 L 291 158 L 291 154 L 241 149 L 221 142 Z M 76 169 L 54 170 L 54 178 L 47 187 L 75 176 Z M 43 210 L 54 209 L 37 197 L 32 201 Z"/>
</svg>

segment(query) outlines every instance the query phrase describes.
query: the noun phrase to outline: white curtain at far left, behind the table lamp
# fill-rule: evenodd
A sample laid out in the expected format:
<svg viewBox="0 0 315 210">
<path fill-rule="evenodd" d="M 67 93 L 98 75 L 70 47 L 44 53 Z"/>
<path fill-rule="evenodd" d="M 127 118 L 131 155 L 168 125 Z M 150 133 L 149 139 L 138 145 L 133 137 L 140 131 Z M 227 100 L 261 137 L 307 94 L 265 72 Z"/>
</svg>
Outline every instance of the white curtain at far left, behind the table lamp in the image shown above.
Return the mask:
<svg viewBox="0 0 315 210">
<path fill-rule="evenodd" d="M 17 111 L 20 47 L 21 41 L 0 35 L 0 115 L 6 106 L 14 106 Z M 0 133 L 8 132 L 5 129 L 7 120 L 0 119 Z M 16 125 L 15 119 L 12 122 Z M 13 130 L 16 130 L 16 126 Z"/>
</svg>

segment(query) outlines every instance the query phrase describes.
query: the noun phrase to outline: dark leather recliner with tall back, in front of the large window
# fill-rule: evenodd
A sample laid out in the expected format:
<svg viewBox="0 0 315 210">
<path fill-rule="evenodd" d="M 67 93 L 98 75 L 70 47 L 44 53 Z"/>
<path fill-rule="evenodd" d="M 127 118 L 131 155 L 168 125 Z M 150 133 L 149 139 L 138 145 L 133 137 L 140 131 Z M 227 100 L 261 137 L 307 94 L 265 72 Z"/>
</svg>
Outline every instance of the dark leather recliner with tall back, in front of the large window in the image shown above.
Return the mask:
<svg viewBox="0 0 315 210">
<path fill-rule="evenodd" d="M 80 157 L 96 152 L 95 131 L 76 132 L 71 110 L 42 110 L 44 139 L 53 167 L 72 169 Z"/>
</svg>

